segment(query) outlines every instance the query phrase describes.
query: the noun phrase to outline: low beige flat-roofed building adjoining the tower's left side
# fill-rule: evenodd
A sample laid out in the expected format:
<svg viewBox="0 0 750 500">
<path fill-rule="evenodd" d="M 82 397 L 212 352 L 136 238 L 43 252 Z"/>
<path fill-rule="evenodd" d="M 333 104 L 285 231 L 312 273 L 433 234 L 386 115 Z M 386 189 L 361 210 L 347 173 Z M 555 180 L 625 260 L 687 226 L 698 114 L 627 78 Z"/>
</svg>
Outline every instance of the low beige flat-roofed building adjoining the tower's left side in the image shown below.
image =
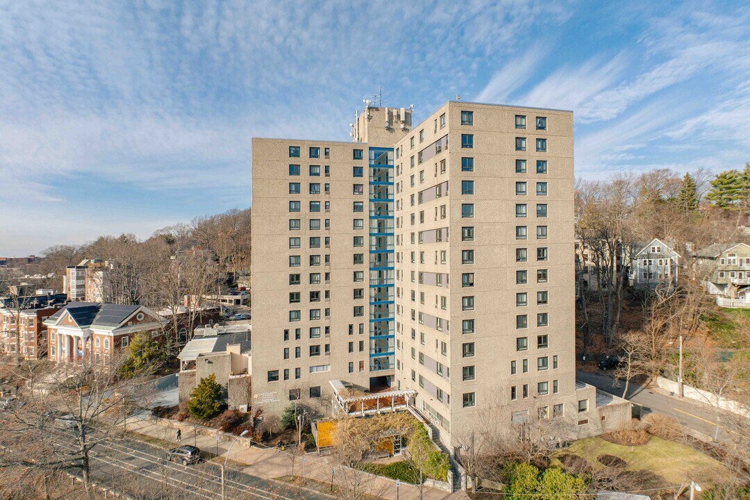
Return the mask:
<svg viewBox="0 0 750 500">
<path fill-rule="evenodd" d="M 245 325 L 196 328 L 193 339 L 179 353 L 179 399 L 189 400 L 200 379 L 213 374 L 226 388 L 229 409 L 248 411 L 251 403 L 251 333 Z"/>
</svg>

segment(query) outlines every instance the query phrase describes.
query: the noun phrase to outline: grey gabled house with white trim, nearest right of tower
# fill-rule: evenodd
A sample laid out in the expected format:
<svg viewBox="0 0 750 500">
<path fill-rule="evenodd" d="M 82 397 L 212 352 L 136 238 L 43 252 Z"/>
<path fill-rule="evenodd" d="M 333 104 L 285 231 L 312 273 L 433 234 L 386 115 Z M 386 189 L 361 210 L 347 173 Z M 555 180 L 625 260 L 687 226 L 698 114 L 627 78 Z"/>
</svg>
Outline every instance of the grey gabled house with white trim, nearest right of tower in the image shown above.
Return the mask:
<svg viewBox="0 0 750 500">
<path fill-rule="evenodd" d="M 631 259 L 628 279 L 636 289 L 654 289 L 658 286 L 674 286 L 679 273 L 679 260 L 674 244 L 654 238 L 646 244 L 638 244 L 639 250 Z"/>
</svg>

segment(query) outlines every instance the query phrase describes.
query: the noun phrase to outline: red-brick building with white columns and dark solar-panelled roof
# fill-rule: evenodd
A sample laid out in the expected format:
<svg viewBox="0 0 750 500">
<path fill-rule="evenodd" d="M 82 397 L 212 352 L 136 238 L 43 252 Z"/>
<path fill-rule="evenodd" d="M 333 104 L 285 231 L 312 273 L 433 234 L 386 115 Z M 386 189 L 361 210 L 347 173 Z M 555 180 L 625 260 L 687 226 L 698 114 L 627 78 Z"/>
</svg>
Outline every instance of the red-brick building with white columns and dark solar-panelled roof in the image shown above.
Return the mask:
<svg viewBox="0 0 750 500">
<path fill-rule="evenodd" d="M 94 358 L 107 364 L 141 332 L 162 336 L 166 320 L 137 305 L 71 302 L 44 321 L 49 359 L 58 363 Z"/>
</svg>

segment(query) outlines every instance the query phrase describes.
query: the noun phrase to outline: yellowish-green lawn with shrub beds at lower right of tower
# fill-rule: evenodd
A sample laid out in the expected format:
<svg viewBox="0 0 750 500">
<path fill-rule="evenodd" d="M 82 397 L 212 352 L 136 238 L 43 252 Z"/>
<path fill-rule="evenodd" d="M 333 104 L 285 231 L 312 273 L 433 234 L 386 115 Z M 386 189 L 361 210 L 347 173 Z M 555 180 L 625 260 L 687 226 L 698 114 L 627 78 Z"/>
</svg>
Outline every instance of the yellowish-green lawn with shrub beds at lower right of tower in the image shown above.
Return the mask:
<svg viewBox="0 0 750 500">
<path fill-rule="evenodd" d="M 580 439 L 570 448 L 557 455 L 574 454 L 583 457 L 594 466 L 602 467 L 596 460 L 600 455 L 613 455 L 628 463 L 630 470 L 649 470 L 664 478 L 669 484 L 682 484 L 690 479 L 700 484 L 712 485 L 715 478 L 724 477 L 727 470 L 720 463 L 707 457 L 688 445 L 664 441 L 651 437 L 643 446 L 622 446 L 604 441 L 598 437 Z M 553 466 L 562 466 L 553 459 Z"/>
</svg>

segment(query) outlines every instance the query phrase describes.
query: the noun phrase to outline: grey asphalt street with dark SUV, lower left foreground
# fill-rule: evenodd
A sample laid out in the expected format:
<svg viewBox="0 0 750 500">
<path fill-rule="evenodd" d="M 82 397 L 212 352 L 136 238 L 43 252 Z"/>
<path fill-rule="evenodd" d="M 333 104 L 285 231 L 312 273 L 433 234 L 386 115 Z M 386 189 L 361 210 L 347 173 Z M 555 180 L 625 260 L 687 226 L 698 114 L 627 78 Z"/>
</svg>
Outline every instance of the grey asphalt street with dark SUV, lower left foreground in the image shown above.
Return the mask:
<svg viewBox="0 0 750 500">
<path fill-rule="evenodd" d="M 71 436 L 57 430 L 58 445 L 71 448 Z M 130 439 L 105 439 L 92 451 L 92 479 L 98 484 L 123 489 L 123 482 L 137 483 L 138 493 L 163 498 L 166 492 L 179 492 L 185 500 L 220 500 L 221 469 L 214 463 L 182 466 L 163 460 L 164 451 Z M 226 470 L 227 500 L 327 500 L 330 497 L 301 490 L 278 481 L 269 481 L 234 469 Z"/>
</svg>

